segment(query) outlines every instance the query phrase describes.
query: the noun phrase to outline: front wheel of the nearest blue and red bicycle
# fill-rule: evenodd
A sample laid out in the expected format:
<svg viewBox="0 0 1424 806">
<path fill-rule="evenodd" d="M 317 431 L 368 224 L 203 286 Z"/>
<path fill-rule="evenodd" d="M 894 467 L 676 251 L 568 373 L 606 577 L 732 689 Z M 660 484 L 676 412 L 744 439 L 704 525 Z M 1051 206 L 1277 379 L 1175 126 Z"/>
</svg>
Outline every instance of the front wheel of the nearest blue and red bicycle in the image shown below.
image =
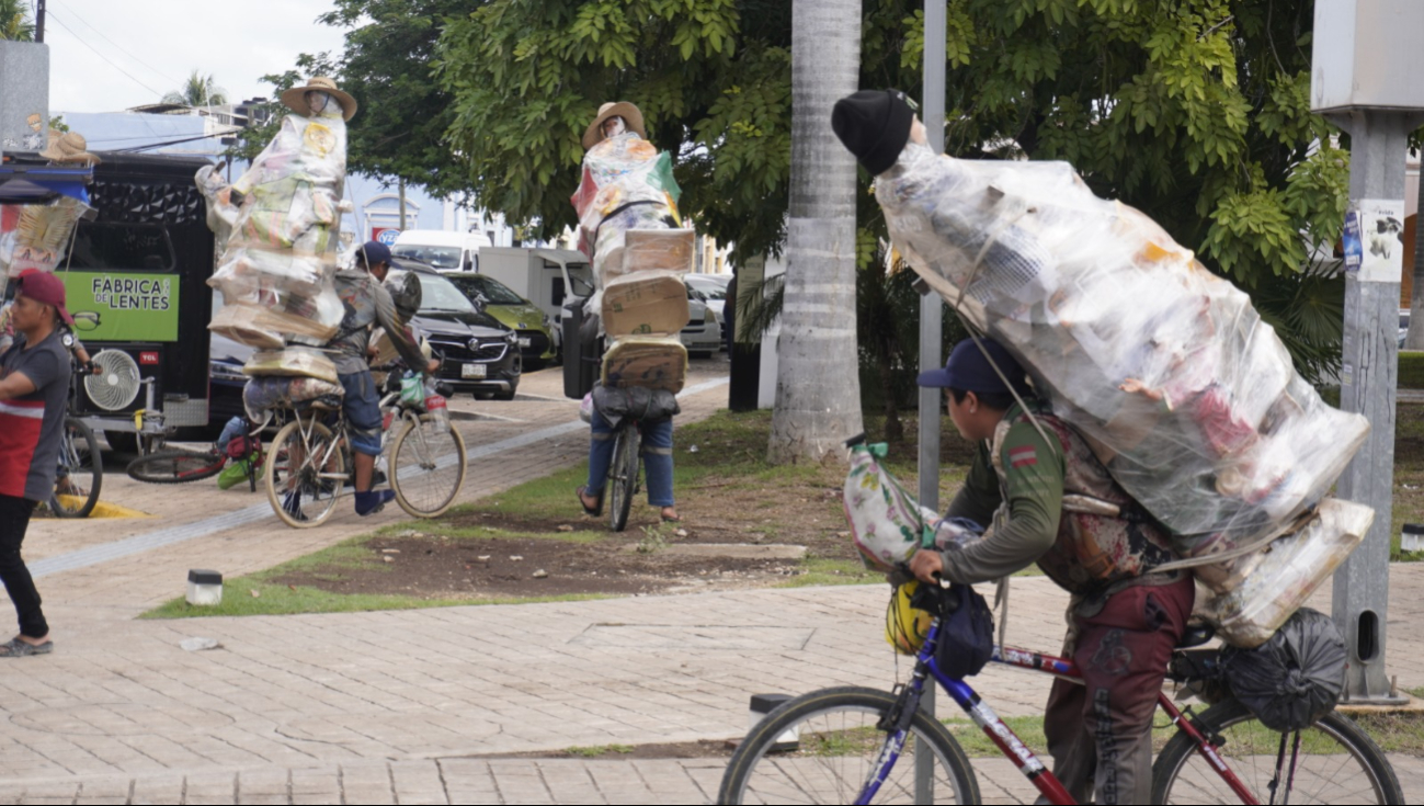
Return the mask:
<svg viewBox="0 0 1424 806">
<path fill-rule="evenodd" d="M 873 803 L 920 803 L 916 756 L 928 753 L 931 803 L 978 803 L 978 780 L 968 756 L 943 725 L 916 713 L 910 736 L 889 770 L 879 768 L 887 733 L 876 725 L 890 711 L 891 694 L 827 688 L 797 696 L 762 719 L 732 753 L 718 803 L 854 803 L 876 773 L 884 782 Z M 792 733 L 795 749 L 778 752 Z"/>
</svg>

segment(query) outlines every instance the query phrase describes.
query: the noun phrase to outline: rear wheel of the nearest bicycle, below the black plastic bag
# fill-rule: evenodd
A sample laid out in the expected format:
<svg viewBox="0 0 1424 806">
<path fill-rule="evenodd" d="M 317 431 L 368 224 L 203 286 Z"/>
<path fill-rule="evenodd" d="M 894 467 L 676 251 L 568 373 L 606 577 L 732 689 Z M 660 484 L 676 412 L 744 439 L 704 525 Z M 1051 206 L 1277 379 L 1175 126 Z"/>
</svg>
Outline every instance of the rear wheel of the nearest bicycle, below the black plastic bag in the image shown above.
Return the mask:
<svg viewBox="0 0 1424 806">
<path fill-rule="evenodd" d="M 1233 699 L 1206 709 L 1196 722 L 1209 736 L 1220 736 L 1216 752 L 1262 803 L 1404 803 L 1384 753 L 1340 713 L 1287 735 L 1284 745 L 1282 733 Z M 1292 772 L 1296 736 L 1300 745 Z M 1152 765 L 1152 802 L 1240 803 L 1240 797 L 1179 732 Z"/>
</svg>

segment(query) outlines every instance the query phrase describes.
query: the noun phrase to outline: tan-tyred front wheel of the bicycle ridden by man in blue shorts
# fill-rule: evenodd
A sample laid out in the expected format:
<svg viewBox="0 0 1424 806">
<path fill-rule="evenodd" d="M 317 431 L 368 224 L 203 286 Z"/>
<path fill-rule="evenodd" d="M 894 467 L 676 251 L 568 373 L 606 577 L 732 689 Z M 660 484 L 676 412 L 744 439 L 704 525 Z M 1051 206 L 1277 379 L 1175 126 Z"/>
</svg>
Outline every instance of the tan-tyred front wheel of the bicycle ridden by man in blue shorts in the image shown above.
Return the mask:
<svg viewBox="0 0 1424 806">
<path fill-rule="evenodd" d="M 402 510 L 433 518 L 449 510 L 464 487 L 464 439 L 454 427 L 437 430 L 430 414 L 403 423 L 390 446 L 390 488 Z"/>
</svg>

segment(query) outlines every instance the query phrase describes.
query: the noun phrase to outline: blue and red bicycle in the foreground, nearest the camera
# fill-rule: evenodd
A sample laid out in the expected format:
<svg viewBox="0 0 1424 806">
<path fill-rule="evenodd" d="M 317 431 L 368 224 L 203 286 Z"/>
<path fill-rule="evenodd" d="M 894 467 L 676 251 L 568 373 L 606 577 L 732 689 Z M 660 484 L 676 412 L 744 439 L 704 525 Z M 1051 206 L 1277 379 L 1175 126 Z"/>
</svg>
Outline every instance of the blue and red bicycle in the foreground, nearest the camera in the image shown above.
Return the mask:
<svg viewBox="0 0 1424 806">
<path fill-rule="evenodd" d="M 897 691 L 830 688 L 776 708 L 732 755 L 718 803 L 978 803 L 978 782 L 964 749 L 943 723 L 920 711 L 928 678 L 1049 803 L 1074 803 L 968 684 L 938 669 L 938 632 L 940 615 L 934 615 L 913 678 Z M 1208 627 L 1189 629 L 1168 679 L 1198 686 L 1216 682 L 1186 655 L 1210 638 Z M 1025 649 L 995 648 L 993 661 L 1059 678 L 1079 676 L 1072 661 Z M 1306 731 L 1276 733 L 1229 695 L 1200 715 L 1178 709 L 1165 692 L 1159 692 L 1158 706 L 1176 733 L 1152 766 L 1153 803 L 1404 803 L 1384 753 L 1337 712 Z M 797 750 L 778 753 L 787 738 Z M 906 756 L 911 756 L 910 763 Z M 916 770 L 924 765 L 930 775 L 917 782 Z M 926 783 L 928 792 L 917 783 Z"/>
</svg>

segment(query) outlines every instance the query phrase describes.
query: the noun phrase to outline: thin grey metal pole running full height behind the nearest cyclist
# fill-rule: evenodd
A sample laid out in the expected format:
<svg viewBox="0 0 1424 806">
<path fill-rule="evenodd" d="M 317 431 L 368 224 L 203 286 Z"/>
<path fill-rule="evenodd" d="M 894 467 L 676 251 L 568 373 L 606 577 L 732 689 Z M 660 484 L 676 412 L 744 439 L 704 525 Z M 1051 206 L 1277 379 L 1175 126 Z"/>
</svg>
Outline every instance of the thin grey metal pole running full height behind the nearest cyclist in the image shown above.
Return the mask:
<svg viewBox="0 0 1424 806">
<path fill-rule="evenodd" d="M 948 3 L 924 4 L 924 131 L 930 148 L 944 152 L 946 24 Z M 944 305 L 940 295 L 920 298 L 920 372 L 940 367 L 940 340 Z M 920 503 L 940 510 L 940 390 L 920 390 Z M 934 716 L 934 681 L 928 681 L 920 709 Z M 934 753 L 916 745 L 914 802 L 934 803 Z"/>
</svg>

